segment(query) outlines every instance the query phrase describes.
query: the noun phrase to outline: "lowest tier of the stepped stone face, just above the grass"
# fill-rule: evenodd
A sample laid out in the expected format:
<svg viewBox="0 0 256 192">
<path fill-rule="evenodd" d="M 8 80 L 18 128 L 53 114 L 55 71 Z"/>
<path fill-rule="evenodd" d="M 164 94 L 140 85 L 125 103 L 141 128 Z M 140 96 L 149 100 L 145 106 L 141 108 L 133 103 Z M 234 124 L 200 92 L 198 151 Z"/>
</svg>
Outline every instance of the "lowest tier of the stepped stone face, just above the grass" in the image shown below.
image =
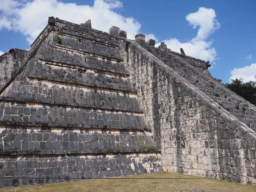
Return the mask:
<svg viewBox="0 0 256 192">
<path fill-rule="evenodd" d="M 0 180 L 0 186 L 152 173 L 161 171 L 159 159 L 160 154 L 154 152 L 0 156 L 0 175 L 6 177 Z"/>
</svg>

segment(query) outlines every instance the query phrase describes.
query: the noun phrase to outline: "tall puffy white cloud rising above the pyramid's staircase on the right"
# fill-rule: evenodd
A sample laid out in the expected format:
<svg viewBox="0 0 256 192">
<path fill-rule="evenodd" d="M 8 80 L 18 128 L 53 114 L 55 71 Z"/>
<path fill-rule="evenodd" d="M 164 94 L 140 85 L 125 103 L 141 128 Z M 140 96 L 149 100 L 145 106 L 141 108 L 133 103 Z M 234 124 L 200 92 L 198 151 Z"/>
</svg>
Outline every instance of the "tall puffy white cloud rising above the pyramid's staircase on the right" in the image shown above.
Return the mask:
<svg viewBox="0 0 256 192">
<path fill-rule="evenodd" d="M 220 23 L 218 23 L 216 19 L 215 11 L 213 9 L 200 7 L 198 12 L 186 15 L 186 20 L 192 25 L 193 29 L 199 27 L 195 38 L 187 42 L 180 42 L 177 38 L 169 38 L 163 42 L 167 44 L 167 47 L 172 49 L 172 51 L 180 52 L 180 48 L 183 48 L 186 55 L 205 61 L 214 61 L 217 52 L 215 48 L 212 47 L 213 41 L 206 41 L 206 39 L 220 27 Z M 156 44 L 156 47 L 159 45 L 160 42 Z"/>
</svg>

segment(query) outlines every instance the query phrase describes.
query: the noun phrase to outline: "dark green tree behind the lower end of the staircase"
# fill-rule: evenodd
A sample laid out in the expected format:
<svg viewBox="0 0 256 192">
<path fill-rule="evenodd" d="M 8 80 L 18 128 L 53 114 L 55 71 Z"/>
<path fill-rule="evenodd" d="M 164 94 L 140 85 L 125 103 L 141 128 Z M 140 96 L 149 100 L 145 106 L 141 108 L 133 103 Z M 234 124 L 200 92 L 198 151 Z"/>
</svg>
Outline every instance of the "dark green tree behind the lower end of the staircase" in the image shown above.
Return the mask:
<svg viewBox="0 0 256 192">
<path fill-rule="evenodd" d="M 243 82 L 243 79 L 236 78 L 235 80 L 231 79 L 231 82 L 226 83 L 225 86 L 251 104 L 256 105 L 256 81 Z"/>
</svg>

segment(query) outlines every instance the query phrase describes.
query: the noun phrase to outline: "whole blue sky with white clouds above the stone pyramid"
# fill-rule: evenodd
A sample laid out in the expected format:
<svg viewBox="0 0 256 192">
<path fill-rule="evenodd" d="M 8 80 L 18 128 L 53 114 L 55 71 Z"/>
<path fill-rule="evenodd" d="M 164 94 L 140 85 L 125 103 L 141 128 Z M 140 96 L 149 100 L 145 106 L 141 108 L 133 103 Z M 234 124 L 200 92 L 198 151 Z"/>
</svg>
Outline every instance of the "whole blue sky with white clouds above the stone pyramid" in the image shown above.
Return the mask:
<svg viewBox="0 0 256 192">
<path fill-rule="evenodd" d="M 68 4 L 71 3 L 71 4 Z M 115 25 L 134 39 L 137 33 L 164 41 L 168 48 L 209 60 L 212 76 L 256 76 L 256 1 L 254 0 L 0 0 L 0 54 L 29 49 L 48 16 L 74 23 L 92 21 L 108 32 Z"/>
</svg>

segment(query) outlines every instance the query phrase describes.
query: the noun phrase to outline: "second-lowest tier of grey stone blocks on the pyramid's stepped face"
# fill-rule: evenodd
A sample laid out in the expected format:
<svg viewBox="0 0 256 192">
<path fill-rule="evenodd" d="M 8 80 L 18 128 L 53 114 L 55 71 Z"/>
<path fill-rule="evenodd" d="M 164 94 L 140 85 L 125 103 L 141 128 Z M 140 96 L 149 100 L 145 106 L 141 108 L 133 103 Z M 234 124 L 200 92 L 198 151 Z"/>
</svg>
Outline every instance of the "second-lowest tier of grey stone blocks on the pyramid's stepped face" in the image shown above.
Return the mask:
<svg viewBox="0 0 256 192">
<path fill-rule="evenodd" d="M 7 126 L 8 127 L 8 126 Z M 0 155 L 93 154 L 159 151 L 149 131 L 83 128 L 7 128 Z M 27 132 L 24 132 L 28 130 Z M 11 138 L 19 138 L 13 141 Z M 154 146 L 155 148 L 150 148 Z"/>
</svg>

